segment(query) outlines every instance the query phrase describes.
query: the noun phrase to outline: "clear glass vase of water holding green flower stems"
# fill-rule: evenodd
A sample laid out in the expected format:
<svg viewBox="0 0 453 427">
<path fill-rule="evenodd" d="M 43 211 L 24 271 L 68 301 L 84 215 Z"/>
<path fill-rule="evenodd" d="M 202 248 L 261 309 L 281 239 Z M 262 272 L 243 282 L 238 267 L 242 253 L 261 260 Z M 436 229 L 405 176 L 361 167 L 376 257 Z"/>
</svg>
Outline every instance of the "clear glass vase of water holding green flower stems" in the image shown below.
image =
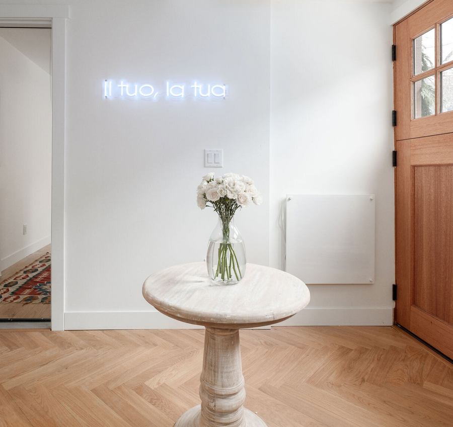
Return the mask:
<svg viewBox="0 0 453 427">
<path fill-rule="evenodd" d="M 209 237 L 206 265 L 216 283 L 234 285 L 245 275 L 246 250 L 233 216 L 219 216 Z"/>
</svg>

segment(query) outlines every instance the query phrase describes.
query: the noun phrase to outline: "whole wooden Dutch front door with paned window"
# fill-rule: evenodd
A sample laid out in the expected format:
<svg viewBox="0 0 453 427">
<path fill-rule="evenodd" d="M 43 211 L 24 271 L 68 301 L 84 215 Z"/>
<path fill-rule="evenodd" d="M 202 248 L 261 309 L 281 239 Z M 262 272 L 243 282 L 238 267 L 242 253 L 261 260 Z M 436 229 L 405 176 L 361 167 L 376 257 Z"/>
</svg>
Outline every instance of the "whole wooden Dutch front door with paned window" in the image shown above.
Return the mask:
<svg viewBox="0 0 453 427">
<path fill-rule="evenodd" d="M 394 27 L 396 322 L 453 358 L 453 1 Z"/>
</svg>

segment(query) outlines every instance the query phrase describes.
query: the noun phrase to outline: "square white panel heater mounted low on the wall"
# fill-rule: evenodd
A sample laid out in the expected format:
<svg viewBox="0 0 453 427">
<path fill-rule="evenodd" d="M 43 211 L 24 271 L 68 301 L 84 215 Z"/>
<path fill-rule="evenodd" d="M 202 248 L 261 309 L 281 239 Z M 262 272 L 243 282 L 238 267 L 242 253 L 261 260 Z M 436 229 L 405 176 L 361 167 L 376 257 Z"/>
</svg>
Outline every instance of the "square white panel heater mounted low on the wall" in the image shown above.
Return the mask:
<svg viewBox="0 0 453 427">
<path fill-rule="evenodd" d="M 374 194 L 288 195 L 286 271 L 307 284 L 374 283 Z"/>
</svg>

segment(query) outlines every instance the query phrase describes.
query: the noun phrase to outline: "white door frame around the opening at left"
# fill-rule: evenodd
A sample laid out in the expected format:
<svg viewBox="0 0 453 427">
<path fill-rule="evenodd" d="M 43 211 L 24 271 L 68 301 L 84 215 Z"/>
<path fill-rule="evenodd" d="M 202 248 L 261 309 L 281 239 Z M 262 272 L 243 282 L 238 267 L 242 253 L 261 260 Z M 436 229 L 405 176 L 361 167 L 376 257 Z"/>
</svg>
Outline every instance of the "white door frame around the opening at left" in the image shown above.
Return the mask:
<svg viewBox="0 0 453 427">
<path fill-rule="evenodd" d="M 67 5 L 0 5 L 1 27 L 51 28 L 52 34 L 52 330 L 64 330 Z"/>
</svg>

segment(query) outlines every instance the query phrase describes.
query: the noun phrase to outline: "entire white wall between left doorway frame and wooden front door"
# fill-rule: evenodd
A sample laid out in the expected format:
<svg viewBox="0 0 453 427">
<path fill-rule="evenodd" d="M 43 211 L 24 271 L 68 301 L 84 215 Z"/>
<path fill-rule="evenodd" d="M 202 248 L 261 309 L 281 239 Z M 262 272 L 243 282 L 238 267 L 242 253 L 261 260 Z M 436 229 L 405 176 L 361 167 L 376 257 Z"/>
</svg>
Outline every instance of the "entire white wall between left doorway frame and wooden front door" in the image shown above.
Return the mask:
<svg viewBox="0 0 453 427">
<path fill-rule="evenodd" d="M 216 222 L 195 203 L 204 148 L 224 150 L 215 172 L 249 175 L 263 192 L 265 203 L 236 220 L 253 263 L 282 268 L 285 194 L 375 194 L 375 284 L 312 287 L 295 321 L 391 322 L 390 4 L 72 0 L 70 9 L 66 328 L 181 325 L 143 300 L 141 284 L 204 258 Z M 105 78 L 219 79 L 230 96 L 105 100 Z"/>
</svg>

